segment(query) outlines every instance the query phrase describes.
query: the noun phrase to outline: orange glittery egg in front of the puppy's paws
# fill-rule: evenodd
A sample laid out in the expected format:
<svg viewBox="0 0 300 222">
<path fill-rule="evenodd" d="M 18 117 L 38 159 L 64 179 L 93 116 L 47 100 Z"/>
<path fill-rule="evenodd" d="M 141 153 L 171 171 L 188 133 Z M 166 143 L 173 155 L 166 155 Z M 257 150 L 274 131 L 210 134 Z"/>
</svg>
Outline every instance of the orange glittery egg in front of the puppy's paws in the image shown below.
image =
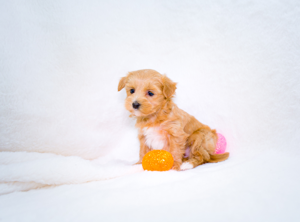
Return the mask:
<svg viewBox="0 0 300 222">
<path fill-rule="evenodd" d="M 171 153 L 165 150 L 151 150 L 145 154 L 142 160 L 144 170 L 166 171 L 173 166 L 174 159 Z"/>
</svg>

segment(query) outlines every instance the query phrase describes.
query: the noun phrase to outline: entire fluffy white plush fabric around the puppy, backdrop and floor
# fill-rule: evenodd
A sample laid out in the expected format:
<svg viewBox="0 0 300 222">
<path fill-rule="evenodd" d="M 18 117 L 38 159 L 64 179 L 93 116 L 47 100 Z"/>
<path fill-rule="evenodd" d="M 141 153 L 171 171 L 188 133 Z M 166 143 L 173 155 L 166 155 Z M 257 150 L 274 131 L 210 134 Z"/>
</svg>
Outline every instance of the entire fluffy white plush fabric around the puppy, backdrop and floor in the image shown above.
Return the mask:
<svg viewBox="0 0 300 222">
<path fill-rule="evenodd" d="M 2 1 L 0 220 L 298 221 L 299 39 L 299 1 Z M 131 166 L 117 86 L 145 68 L 178 82 L 227 161 Z"/>
</svg>

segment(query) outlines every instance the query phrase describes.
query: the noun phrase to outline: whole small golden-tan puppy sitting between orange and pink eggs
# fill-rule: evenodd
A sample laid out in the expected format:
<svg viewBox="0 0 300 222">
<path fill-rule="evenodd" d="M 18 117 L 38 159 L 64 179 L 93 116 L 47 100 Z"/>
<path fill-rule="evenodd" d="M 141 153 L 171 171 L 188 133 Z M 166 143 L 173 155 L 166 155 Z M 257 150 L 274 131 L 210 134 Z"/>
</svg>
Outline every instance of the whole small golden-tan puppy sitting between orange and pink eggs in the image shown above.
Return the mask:
<svg viewBox="0 0 300 222">
<path fill-rule="evenodd" d="M 155 70 L 137 70 L 122 77 L 118 91 L 126 89 L 125 107 L 137 120 L 141 164 L 152 149 L 170 152 L 173 170 L 188 170 L 203 163 L 216 163 L 229 153 L 215 154 L 216 130 L 179 109 L 172 97 L 176 83 Z"/>
</svg>

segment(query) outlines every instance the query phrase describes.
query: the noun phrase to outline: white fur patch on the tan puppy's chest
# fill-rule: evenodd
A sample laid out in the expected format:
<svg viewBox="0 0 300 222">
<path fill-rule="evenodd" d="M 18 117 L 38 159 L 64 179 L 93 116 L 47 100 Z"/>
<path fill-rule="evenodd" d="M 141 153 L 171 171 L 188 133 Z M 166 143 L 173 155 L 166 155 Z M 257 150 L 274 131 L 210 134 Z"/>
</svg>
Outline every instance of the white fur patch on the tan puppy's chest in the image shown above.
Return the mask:
<svg viewBox="0 0 300 222">
<path fill-rule="evenodd" d="M 160 127 L 145 127 L 143 128 L 146 145 L 151 149 L 166 149 L 168 144 L 166 131 Z"/>
</svg>

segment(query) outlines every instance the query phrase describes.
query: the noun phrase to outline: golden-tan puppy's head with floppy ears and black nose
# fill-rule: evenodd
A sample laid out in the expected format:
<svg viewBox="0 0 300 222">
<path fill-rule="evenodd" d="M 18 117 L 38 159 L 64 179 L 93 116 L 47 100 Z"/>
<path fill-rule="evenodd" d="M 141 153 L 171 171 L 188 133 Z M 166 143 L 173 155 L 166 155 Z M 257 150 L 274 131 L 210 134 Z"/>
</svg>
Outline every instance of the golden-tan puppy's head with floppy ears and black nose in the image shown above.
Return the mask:
<svg viewBox="0 0 300 222">
<path fill-rule="evenodd" d="M 155 70 L 137 70 L 121 78 L 118 91 L 122 88 L 127 93 L 126 109 L 134 116 L 148 116 L 174 95 L 176 83 Z"/>
</svg>

